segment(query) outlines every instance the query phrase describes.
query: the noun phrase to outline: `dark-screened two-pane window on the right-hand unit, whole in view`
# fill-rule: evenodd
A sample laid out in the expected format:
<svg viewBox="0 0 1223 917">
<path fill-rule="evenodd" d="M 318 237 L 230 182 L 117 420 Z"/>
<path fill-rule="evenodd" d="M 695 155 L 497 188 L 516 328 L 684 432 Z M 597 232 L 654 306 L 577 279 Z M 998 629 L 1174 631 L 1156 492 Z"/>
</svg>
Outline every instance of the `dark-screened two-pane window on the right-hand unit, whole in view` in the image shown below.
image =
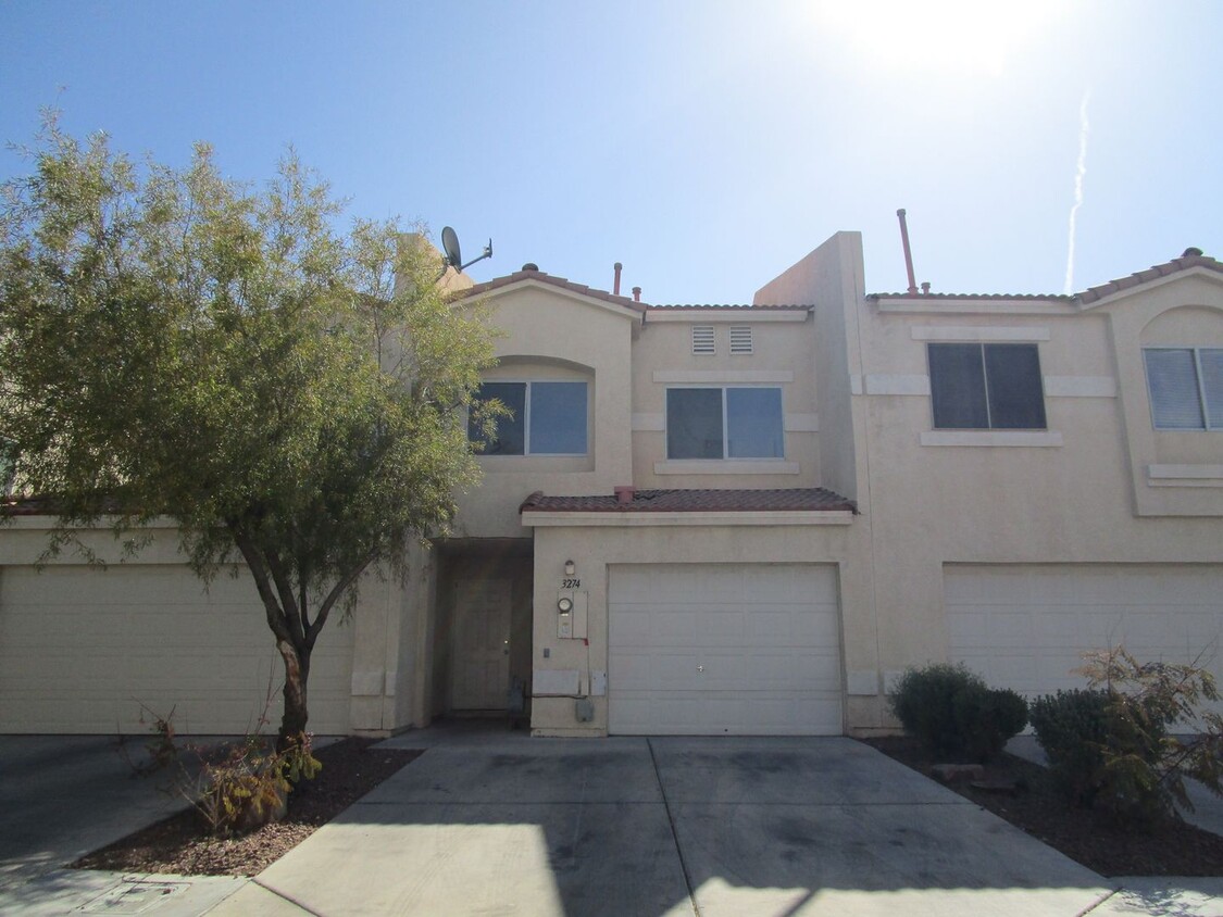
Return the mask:
<svg viewBox="0 0 1223 917">
<path fill-rule="evenodd" d="M 1035 344 L 929 344 L 927 356 L 936 429 L 1046 428 Z"/>
</svg>

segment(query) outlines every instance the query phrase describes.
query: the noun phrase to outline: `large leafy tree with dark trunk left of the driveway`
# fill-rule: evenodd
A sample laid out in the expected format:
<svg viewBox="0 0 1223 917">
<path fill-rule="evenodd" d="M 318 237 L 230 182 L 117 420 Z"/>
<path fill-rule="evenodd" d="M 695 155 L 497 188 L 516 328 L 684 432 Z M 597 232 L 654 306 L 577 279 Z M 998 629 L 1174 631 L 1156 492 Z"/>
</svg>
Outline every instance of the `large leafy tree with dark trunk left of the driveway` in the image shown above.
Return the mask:
<svg viewBox="0 0 1223 917">
<path fill-rule="evenodd" d="M 245 561 L 284 660 L 284 745 L 329 617 L 364 571 L 405 572 L 477 481 L 464 413 L 488 328 L 394 221 L 336 232 L 292 153 L 253 187 L 204 144 L 183 170 L 137 164 L 53 116 L 29 158 L 0 207 L 17 493 L 56 516 L 48 554 L 103 523 L 132 553 L 170 517 L 205 582 Z"/>
</svg>

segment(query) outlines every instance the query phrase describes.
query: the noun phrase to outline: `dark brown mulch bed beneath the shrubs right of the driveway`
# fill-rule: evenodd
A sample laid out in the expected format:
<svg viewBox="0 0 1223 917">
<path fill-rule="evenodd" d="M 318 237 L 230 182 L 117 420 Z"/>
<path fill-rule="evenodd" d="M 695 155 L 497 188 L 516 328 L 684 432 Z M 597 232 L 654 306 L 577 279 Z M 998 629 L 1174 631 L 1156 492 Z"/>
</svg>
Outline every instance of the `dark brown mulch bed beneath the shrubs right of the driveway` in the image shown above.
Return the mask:
<svg viewBox="0 0 1223 917">
<path fill-rule="evenodd" d="M 889 758 L 932 776 L 931 760 L 909 736 L 863 740 Z M 986 767 L 987 781 L 1011 783 L 1014 794 L 948 786 L 1020 830 L 1102 875 L 1223 875 L 1223 838 L 1177 823 L 1151 833 L 1121 830 L 1074 808 L 1038 764 L 1004 754 Z"/>
</svg>

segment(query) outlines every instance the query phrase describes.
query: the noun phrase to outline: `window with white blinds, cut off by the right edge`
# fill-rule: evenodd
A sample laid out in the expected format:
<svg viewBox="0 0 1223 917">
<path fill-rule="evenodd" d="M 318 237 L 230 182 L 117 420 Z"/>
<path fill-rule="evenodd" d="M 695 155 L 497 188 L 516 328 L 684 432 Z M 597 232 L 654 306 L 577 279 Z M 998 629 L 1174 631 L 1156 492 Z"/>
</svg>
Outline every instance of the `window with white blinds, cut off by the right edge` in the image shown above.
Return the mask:
<svg viewBox="0 0 1223 917">
<path fill-rule="evenodd" d="M 1144 347 L 1157 430 L 1223 429 L 1223 347 Z"/>
</svg>

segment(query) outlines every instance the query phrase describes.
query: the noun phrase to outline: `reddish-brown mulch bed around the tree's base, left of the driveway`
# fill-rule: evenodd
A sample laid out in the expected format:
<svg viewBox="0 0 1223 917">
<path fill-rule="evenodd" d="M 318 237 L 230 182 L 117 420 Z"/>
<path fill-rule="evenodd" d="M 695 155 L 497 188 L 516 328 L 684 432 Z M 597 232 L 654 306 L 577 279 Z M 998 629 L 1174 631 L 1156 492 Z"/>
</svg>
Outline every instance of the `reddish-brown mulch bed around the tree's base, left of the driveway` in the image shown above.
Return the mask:
<svg viewBox="0 0 1223 917">
<path fill-rule="evenodd" d="M 72 866 L 182 875 L 256 875 L 421 754 L 419 749 L 372 748 L 375 741 L 350 737 L 316 751 L 323 769 L 305 784 L 305 790 L 290 794 L 285 818 L 251 834 L 210 838 L 203 834 L 197 813 L 190 809 Z"/>
</svg>

